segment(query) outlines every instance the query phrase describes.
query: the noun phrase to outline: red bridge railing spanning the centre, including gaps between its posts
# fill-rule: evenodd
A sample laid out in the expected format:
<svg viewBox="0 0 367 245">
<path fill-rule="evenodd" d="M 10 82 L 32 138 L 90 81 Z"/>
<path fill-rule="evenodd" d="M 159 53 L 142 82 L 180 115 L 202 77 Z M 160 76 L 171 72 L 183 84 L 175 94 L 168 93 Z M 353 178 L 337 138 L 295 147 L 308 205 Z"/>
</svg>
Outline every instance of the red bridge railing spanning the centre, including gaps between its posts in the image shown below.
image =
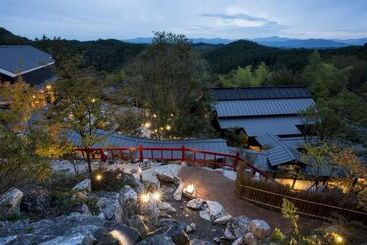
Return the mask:
<svg viewBox="0 0 367 245">
<path fill-rule="evenodd" d="M 253 174 L 259 173 L 262 177 L 268 178 L 268 175 L 262 170 L 256 168 L 252 163 L 244 161 L 240 158 L 240 154 L 229 154 L 222 152 L 204 151 L 193 148 L 182 147 L 90 147 L 76 148 L 75 152 L 79 152 L 82 156 L 88 156 L 92 160 L 109 159 L 132 160 L 138 159 L 143 161 L 160 160 L 160 161 L 186 161 L 195 162 L 204 166 L 231 167 L 236 169 L 239 161 L 243 161 L 252 169 Z"/>
</svg>

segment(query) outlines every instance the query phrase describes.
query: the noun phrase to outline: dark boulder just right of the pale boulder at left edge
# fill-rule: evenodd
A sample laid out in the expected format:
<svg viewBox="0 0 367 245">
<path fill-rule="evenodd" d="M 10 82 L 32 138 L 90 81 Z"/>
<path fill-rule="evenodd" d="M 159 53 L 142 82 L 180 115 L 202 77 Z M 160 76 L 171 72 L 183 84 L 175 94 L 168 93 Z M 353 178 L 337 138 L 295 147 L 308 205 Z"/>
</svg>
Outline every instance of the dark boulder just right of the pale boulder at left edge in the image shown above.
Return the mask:
<svg viewBox="0 0 367 245">
<path fill-rule="evenodd" d="M 46 214 L 50 208 L 49 192 L 41 187 L 23 190 L 20 210 L 28 213 Z"/>
</svg>

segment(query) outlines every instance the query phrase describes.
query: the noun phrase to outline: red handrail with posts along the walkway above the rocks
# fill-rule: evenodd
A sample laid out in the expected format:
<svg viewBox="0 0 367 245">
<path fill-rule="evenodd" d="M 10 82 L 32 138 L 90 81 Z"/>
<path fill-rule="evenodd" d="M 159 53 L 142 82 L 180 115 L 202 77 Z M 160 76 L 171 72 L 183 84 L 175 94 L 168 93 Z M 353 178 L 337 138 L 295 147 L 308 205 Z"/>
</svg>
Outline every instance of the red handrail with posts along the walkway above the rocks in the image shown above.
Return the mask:
<svg viewBox="0 0 367 245">
<path fill-rule="evenodd" d="M 229 154 L 229 153 L 223 153 L 223 152 L 214 152 L 214 151 L 206 151 L 206 150 L 199 150 L 194 148 L 187 148 L 185 145 L 182 145 L 181 147 L 143 147 L 142 145 L 136 146 L 136 147 L 89 147 L 89 148 L 75 148 L 75 152 L 81 152 L 81 153 L 87 153 L 91 154 L 91 159 L 97 159 L 94 153 L 100 154 L 100 159 L 102 161 L 108 160 L 108 156 L 105 154 L 105 152 L 112 152 L 111 155 L 114 152 L 120 152 L 120 158 L 123 158 L 123 152 L 129 151 L 129 152 L 138 152 L 138 158 L 139 161 L 143 161 L 143 159 L 150 159 L 150 160 L 181 160 L 181 161 L 192 161 L 197 163 L 222 163 L 224 166 L 232 167 L 236 169 L 237 164 L 240 161 L 243 161 L 246 163 L 246 165 L 253 170 L 254 173 L 259 173 L 261 176 L 265 177 L 266 179 L 269 178 L 269 176 L 263 172 L 261 169 L 255 167 L 252 163 L 250 163 L 247 160 L 243 160 L 240 157 L 240 154 Z M 150 157 L 144 157 L 144 153 L 146 151 L 150 151 L 151 155 Z M 170 157 L 165 157 L 163 152 L 170 152 Z M 154 152 L 160 153 L 159 156 L 154 156 Z M 173 157 L 173 152 L 181 153 L 180 157 Z M 188 158 L 185 154 L 191 153 L 193 154 L 193 159 Z M 198 157 L 197 155 L 201 154 L 202 157 Z M 212 157 L 212 159 L 208 159 L 208 157 Z M 227 158 L 232 159 L 232 162 L 228 162 Z M 221 160 L 222 159 L 222 162 Z M 125 158 L 124 160 L 128 160 Z"/>
</svg>

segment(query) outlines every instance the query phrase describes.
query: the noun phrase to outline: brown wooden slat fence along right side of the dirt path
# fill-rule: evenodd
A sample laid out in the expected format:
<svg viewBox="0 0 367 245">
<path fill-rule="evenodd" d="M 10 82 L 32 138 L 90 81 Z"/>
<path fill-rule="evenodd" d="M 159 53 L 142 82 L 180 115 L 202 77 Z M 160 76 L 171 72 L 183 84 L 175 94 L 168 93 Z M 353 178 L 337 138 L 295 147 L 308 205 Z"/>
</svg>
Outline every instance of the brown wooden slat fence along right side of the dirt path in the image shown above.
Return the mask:
<svg viewBox="0 0 367 245">
<path fill-rule="evenodd" d="M 334 214 L 340 214 L 350 220 L 357 220 L 367 223 L 367 213 L 365 212 L 282 195 L 256 187 L 247 186 L 241 184 L 239 181 L 236 182 L 235 193 L 241 199 L 245 199 L 258 206 L 271 210 L 280 211 L 283 198 L 286 198 L 294 203 L 294 205 L 297 207 L 297 213 L 302 216 L 308 216 L 322 220 L 331 220 L 335 218 Z"/>
</svg>

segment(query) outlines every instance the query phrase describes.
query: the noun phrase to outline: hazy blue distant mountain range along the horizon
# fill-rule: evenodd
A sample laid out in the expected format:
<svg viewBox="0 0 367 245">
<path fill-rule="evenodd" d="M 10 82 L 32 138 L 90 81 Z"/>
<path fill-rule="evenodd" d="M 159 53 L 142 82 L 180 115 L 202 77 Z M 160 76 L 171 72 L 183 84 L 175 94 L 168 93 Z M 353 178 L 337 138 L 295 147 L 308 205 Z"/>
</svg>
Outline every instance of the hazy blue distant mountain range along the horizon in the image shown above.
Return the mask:
<svg viewBox="0 0 367 245">
<path fill-rule="evenodd" d="M 206 43 L 206 44 L 228 44 L 235 40 L 224 39 L 224 38 L 191 38 L 194 44 Z M 134 39 L 123 40 L 129 43 L 144 43 L 149 44 L 152 38 L 139 37 Z M 277 48 L 342 48 L 347 46 L 363 46 L 367 43 L 367 38 L 358 39 L 294 39 L 286 37 L 265 37 L 255 38 L 251 41 L 257 42 L 258 44 L 277 47 Z"/>
</svg>

